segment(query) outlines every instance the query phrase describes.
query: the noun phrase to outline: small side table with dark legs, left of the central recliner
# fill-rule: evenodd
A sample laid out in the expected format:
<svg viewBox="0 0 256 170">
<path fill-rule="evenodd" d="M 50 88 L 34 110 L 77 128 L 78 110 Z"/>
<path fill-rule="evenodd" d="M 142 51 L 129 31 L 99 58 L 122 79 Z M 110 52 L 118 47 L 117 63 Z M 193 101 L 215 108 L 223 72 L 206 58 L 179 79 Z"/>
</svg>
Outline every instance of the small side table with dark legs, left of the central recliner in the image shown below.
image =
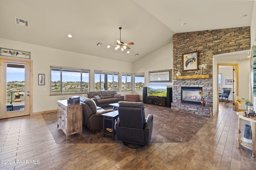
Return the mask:
<svg viewBox="0 0 256 170">
<path fill-rule="evenodd" d="M 102 116 L 103 116 L 103 137 L 105 137 L 105 135 L 110 135 L 112 136 L 112 140 L 114 140 L 115 134 L 116 134 L 115 123 L 119 117 L 118 110 L 104 113 L 102 114 Z M 109 123 L 111 123 L 111 126 L 107 125 Z M 106 130 L 107 128 L 112 129 L 112 132 L 107 131 Z"/>
</svg>

